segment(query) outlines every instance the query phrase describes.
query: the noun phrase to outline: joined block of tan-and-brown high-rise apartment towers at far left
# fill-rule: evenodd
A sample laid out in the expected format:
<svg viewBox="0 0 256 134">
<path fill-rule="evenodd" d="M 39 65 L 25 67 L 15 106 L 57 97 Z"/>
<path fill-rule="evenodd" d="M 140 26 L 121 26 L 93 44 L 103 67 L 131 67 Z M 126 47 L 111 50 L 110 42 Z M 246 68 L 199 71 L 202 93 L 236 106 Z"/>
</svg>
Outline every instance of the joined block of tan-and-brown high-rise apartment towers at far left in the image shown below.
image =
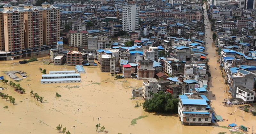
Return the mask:
<svg viewBox="0 0 256 134">
<path fill-rule="evenodd" d="M 45 54 L 60 40 L 60 8 L 47 2 L 42 8 L 29 3 L 24 8 L 5 4 L 0 20 L 1 59 Z"/>
</svg>

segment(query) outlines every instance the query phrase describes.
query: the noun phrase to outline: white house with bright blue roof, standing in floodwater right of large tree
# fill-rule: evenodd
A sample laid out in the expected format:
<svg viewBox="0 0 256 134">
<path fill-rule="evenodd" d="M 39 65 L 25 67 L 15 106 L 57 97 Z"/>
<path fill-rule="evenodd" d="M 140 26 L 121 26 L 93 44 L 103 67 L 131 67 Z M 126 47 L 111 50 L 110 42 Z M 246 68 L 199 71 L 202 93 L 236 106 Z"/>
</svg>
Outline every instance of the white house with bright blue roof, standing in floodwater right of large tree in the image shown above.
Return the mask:
<svg viewBox="0 0 256 134">
<path fill-rule="evenodd" d="M 179 95 L 178 114 L 181 124 L 209 125 L 212 123 L 212 109 L 206 100 L 209 101 L 204 95 Z"/>
</svg>

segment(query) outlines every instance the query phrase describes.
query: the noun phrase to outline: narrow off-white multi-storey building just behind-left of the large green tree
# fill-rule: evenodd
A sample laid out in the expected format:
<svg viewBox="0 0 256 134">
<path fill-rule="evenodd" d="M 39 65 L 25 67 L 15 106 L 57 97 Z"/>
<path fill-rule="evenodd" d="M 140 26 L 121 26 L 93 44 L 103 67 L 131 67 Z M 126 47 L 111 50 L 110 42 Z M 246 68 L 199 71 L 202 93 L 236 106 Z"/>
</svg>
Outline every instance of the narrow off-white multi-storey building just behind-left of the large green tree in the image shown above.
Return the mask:
<svg viewBox="0 0 256 134">
<path fill-rule="evenodd" d="M 142 96 L 147 100 L 153 97 L 152 93 L 157 93 L 157 80 L 156 78 L 143 78 L 142 80 Z"/>
</svg>

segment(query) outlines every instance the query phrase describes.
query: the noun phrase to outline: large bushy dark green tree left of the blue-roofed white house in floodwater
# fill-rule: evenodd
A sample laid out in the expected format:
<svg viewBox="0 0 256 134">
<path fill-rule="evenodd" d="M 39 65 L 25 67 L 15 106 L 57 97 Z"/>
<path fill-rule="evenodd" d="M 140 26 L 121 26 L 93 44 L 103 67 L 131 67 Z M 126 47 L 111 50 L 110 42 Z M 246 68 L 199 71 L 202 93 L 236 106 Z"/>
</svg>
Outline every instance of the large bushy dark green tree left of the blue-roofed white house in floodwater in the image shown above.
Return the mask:
<svg viewBox="0 0 256 134">
<path fill-rule="evenodd" d="M 171 93 L 165 94 L 163 91 L 155 93 L 151 100 L 143 102 L 143 109 L 156 113 L 177 113 L 178 99 L 173 99 Z"/>
</svg>

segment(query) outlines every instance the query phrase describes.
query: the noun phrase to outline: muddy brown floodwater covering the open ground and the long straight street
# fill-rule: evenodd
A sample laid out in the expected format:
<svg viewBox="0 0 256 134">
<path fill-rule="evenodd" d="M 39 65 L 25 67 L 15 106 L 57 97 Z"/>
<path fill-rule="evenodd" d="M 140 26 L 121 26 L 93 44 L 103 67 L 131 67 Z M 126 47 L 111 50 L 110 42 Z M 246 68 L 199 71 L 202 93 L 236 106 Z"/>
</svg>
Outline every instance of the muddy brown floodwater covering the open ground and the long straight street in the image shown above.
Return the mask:
<svg viewBox="0 0 256 134">
<path fill-rule="evenodd" d="M 204 7 L 205 9 L 205 7 Z M 206 12 L 206 11 L 205 11 Z M 206 13 L 205 15 L 206 16 Z M 207 20 L 208 21 L 208 20 Z M 211 31 L 206 31 L 207 37 L 212 37 Z M 216 55 L 214 44 L 209 38 L 207 52 L 210 58 L 210 72 L 212 74 L 210 84 L 210 94 L 215 94 L 212 99 L 212 107 L 216 115 L 221 115 L 228 121 L 218 122 L 215 125 L 227 126 L 230 123 L 244 125 L 252 128 L 256 123 L 255 117 L 250 113 L 244 113 L 235 106 L 232 108 L 224 107 L 222 100 L 226 99 L 228 93 L 224 92 L 226 87 L 221 79 L 220 70 L 213 69 L 219 66 L 216 64 L 218 57 Z M 100 67 L 84 67 L 86 74 L 81 74 L 82 83 L 63 83 L 63 84 L 40 84 L 41 72 L 39 68 L 49 71 L 75 70 L 74 66 L 54 66 L 48 65 L 49 57 L 39 58 L 39 61 L 28 64 L 13 64 L 12 61 L 1 61 L 0 76 L 5 76 L 4 71 L 24 71 L 28 77 L 15 82 L 20 84 L 26 91 L 25 94 L 14 92 L 14 88 L 9 84 L 1 83 L 0 86 L 8 88 L 8 95 L 16 98 L 16 103 L 12 105 L 9 101 L 0 99 L 0 128 L 2 133 L 21 134 L 28 133 L 59 133 L 56 129 L 58 124 L 62 124 L 71 133 L 74 131 L 74 125 L 77 125 L 75 132 L 80 134 L 96 134 L 95 125 L 99 123 L 108 130 L 109 134 L 187 134 L 187 133 L 209 133 L 226 132 L 228 129 L 213 126 L 185 126 L 181 125 L 177 114 L 163 115 L 145 112 L 140 106 L 134 108 L 136 101 L 143 103 L 143 100 L 130 100 L 131 90 L 142 86 L 141 80 L 135 79 L 115 79 L 109 73 L 100 72 Z M 18 62 L 19 60 L 14 60 Z M 17 74 L 19 76 L 19 74 Z M 19 76 L 21 77 L 21 76 Z M 12 80 L 13 81 L 13 80 Z M 43 103 L 40 103 L 28 92 L 31 90 L 44 97 Z M 76 86 L 76 87 L 74 87 Z M 79 86 L 79 87 L 77 87 Z M 54 110 L 55 92 L 61 97 L 56 98 Z M 28 112 L 27 101 L 28 98 Z M 8 109 L 3 108 L 8 106 Z M 77 109 L 79 115 L 77 114 Z M 228 115 L 227 113 L 234 113 Z M 148 117 L 137 120 L 137 124 L 131 125 L 132 119 L 140 116 Z M 79 117 L 79 123 L 77 123 Z M 243 121 L 244 119 L 244 121 Z M 251 130 L 250 130 L 251 131 Z M 101 132 L 100 132 L 101 133 Z"/>
</svg>

